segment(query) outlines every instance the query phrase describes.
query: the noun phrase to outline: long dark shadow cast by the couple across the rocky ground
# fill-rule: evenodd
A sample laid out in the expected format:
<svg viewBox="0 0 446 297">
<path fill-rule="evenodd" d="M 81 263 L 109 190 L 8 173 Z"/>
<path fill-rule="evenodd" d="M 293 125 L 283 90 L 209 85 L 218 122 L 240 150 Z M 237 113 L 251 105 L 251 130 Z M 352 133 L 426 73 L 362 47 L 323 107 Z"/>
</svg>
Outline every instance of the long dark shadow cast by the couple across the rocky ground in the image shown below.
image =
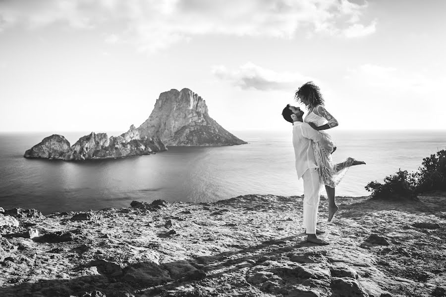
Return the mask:
<svg viewBox="0 0 446 297">
<path fill-rule="evenodd" d="M 23 282 L 0 288 L 1 297 L 30 297 L 30 296 L 51 296 L 51 297 L 69 297 L 83 296 L 85 293 L 91 293 L 95 290 L 106 294 L 107 297 L 121 296 L 154 296 L 174 290 L 179 286 L 191 284 L 199 280 L 218 279 L 223 274 L 236 272 L 245 267 L 253 267 L 261 264 L 268 259 L 272 259 L 280 254 L 288 254 L 303 247 L 318 246 L 308 243 L 303 237 L 304 233 L 292 235 L 280 239 L 270 239 L 258 245 L 244 247 L 233 251 L 224 251 L 216 255 L 199 256 L 191 259 L 172 261 L 163 263 L 171 267 L 193 266 L 196 269 L 204 271 L 205 275 L 199 277 L 177 277 L 173 281 L 161 283 L 156 287 L 147 289 L 137 282 L 127 282 L 122 277 L 110 277 L 106 274 L 86 275 L 73 279 L 51 279 L 38 280 L 37 282 Z M 262 250 L 258 252 L 259 250 Z M 162 264 L 162 265 L 163 265 Z M 75 268 L 82 270 L 83 267 Z M 125 268 L 123 268 L 125 270 Z M 217 271 L 218 272 L 215 272 Z M 180 274 L 181 272 L 179 272 Z M 137 293 L 135 293 L 137 292 Z M 88 296 L 98 296 L 92 293 Z M 168 296 L 168 295 L 166 295 Z M 102 296 L 101 296 L 102 297 Z"/>
</svg>

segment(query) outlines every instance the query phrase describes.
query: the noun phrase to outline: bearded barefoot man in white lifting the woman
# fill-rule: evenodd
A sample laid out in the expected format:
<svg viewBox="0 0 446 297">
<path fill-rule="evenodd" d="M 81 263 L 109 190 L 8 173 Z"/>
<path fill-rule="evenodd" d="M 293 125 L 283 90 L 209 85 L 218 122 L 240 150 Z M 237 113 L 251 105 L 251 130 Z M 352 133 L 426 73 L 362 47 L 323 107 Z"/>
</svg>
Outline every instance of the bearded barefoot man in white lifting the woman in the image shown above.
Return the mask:
<svg viewBox="0 0 446 297">
<path fill-rule="evenodd" d="M 333 142 L 314 130 L 309 124 L 303 122 L 304 112 L 299 107 L 290 106 L 283 108 L 283 118 L 293 124 L 293 147 L 296 157 L 296 171 L 298 178 L 303 179 L 303 221 L 307 241 L 317 245 L 328 245 L 328 243 L 317 237 L 316 230 L 318 221 L 319 191 L 321 182 L 319 180 L 318 165 L 313 152 L 312 142 L 321 143 L 323 146 L 333 148 Z M 318 232 L 317 232 L 318 231 Z"/>
</svg>

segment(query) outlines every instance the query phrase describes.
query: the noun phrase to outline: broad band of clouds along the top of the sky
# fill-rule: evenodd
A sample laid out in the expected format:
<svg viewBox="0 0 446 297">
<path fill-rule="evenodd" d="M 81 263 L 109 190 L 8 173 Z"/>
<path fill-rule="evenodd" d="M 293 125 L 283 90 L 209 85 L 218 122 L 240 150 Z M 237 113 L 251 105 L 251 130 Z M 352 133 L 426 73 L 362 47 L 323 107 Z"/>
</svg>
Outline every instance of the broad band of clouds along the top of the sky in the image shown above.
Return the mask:
<svg viewBox="0 0 446 297">
<path fill-rule="evenodd" d="M 53 24 L 113 28 L 109 33 L 114 40 L 151 52 L 205 34 L 292 39 L 303 31 L 364 36 L 375 32 L 376 25 L 360 23 L 367 6 L 348 0 L 2 0 L 0 31 Z"/>
</svg>

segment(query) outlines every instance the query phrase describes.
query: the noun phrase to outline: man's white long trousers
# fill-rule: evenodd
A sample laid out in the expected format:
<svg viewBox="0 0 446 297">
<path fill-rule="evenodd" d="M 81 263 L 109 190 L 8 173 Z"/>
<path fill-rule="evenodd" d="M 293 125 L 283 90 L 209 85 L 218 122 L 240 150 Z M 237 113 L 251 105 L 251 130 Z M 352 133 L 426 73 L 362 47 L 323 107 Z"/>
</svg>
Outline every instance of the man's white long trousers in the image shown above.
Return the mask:
<svg viewBox="0 0 446 297">
<path fill-rule="evenodd" d="M 307 234 L 316 234 L 316 224 L 318 222 L 319 191 L 321 182 L 319 181 L 318 168 L 309 168 L 302 175 L 304 182 L 303 201 L 303 222 Z"/>
</svg>

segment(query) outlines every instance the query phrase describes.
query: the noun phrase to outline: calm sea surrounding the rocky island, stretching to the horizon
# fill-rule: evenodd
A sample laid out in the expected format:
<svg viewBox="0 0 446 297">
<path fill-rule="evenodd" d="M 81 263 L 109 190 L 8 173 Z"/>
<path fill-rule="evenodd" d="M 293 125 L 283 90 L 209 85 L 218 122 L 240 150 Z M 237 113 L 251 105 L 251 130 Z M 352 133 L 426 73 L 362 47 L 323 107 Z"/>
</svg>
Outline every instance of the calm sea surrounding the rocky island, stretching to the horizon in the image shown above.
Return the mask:
<svg viewBox="0 0 446 297">
<path fill-rule="evenodd" d="M 118 159 L 66 162 L 25 159 L 26 149 L 53 133 L 0 134 L 0 207 L 36 208 L 44 214 L 128 207 L 132 200 L 209 202 L 247 194 L 303 194 L 294 169 L 289 131 L 231 131 L 248 142 L 227 147 L 168 147 L 168 151 Z M 90 132 L 60 133 L 74 144 Z M 119 135 L 109 132 L 109 135 Z M 398 169 L 409 172 L 446 148 L 446 131 L 330 131 L 335 162 L 353 166 L 336 196 L 363 197 L 371 181 Z M 325 195 L 323 189 L 321 194 Z"/>
</svg>

